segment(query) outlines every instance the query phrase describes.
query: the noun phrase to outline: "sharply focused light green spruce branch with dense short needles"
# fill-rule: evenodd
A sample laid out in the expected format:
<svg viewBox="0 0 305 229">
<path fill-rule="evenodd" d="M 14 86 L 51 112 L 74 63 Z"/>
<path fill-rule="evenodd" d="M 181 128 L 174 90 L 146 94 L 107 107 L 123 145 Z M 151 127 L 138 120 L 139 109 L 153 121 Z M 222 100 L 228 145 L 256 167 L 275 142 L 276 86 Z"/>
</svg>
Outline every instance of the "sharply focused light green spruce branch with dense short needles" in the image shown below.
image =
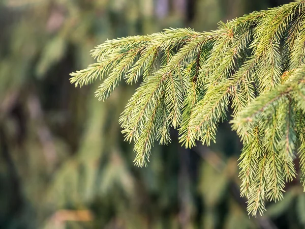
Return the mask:
<svg viewBox="0 0 305 229">
<path fill-rule="evenodd" d="M 71 73 L 82 86 L 107 78 L 96 91 L 107 99 L 121 79 L 142 82 L 120 117 L 134 141 L 135 164 L 146 165 L 155 141 L 170 142 L 170 127 L 187 148 L 215 141 L 218 124 L 233 109 L 240 136 L 241 195 L 252 215 L 265 201 L 283 198 L 300 158 L 305 184 L 305 1 L 254 12 L 212 32 L 190 28 L 108 40 L 97 60 Z"/>
</svg>

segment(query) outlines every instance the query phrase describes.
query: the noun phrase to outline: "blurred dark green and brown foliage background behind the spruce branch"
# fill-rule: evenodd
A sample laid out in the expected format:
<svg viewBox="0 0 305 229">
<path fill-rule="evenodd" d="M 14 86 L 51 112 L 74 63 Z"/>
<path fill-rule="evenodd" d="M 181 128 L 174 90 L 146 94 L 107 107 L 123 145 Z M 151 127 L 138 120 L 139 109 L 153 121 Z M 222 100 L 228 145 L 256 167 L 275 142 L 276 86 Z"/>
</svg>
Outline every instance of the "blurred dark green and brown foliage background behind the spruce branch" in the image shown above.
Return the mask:
<svg viewBox="0 0 305 229">
<path fill-rule="evenodd" d="M 98 83 L 74 88 L 69 73 L 94 60 L 106 39 L 168 27 L 213 30 L 284 0 L 0 1 L 0 228 L 305 228 L 298 181 L 263 217 L 239 196 L 241 144 L 228 123 L 217 144 L 154 147 L 133 166 L 119 114 L 135 88 L 106 102 Z"/>
</svg>

